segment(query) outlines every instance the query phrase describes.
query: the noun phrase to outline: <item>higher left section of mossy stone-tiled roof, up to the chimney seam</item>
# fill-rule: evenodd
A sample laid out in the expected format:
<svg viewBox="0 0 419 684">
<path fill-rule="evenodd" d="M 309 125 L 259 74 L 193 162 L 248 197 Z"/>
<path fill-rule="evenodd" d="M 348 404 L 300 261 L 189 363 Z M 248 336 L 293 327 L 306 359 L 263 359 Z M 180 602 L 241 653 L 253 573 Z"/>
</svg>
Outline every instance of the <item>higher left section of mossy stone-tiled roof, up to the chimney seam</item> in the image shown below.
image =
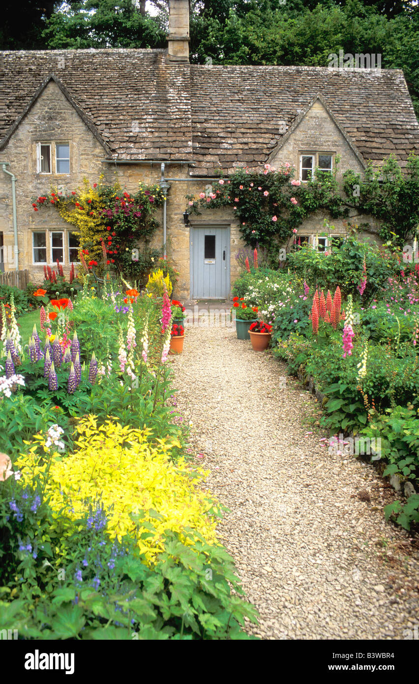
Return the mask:
<svg viewBox="0 0 419 684">
<path fill-rule="evenodd" d="M 166 66 L 165 56 L 131 49 L 2 52 L 0 137 L 54 75 L 118 157 L 189 159 L 189 68 Z"/>
</svg>

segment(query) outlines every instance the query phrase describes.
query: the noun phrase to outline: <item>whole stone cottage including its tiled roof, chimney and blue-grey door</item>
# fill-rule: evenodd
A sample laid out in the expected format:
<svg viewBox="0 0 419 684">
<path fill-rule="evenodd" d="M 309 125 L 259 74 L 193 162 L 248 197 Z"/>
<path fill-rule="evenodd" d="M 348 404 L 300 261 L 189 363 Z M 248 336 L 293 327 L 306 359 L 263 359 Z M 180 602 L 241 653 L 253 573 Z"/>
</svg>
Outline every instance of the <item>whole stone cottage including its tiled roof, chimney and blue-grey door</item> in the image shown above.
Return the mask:
<svg viewBox="0 0 419 684">
<path fill-rule="evenodd" d="M 219 170 L 294 164 L 364 170 L 394 153 L 405 166 L 419 126 L 401 70 L 189 64 L 189 3 L 170 0 L 166 50 L 105 49 L 0 53 L 0 267 L 77 261 L 77 236 L 31 198 L 86 177 L 169 186 L 157 216 L 160 246 L 180 272 L 176 295 L 228 298 L 241 235 L 232 211 L 206 211 L 185 225 L 185 196 Z M 368 217 L 354 215 L 358 223 Z M 299 235 L 319 233 L 312 216 Z M 336 235 L 343 231 L 334 222 Z M 327 239 L 315 246 L 324 249 Z"/>
</svg>

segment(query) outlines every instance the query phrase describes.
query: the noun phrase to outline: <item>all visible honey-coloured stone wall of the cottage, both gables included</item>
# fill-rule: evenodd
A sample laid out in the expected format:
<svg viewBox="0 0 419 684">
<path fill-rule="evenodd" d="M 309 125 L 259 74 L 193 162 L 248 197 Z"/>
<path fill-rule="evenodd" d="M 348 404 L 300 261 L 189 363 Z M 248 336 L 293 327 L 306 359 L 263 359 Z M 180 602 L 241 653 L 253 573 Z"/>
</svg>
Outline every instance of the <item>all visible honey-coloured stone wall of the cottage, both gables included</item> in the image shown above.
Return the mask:
<svg viewBox="0 0 419 684">
<path fill-rule="evenodd" d="M 36 170 L 36 144 L 38 142 L 69 143 L 70 174 L 55 172 L 38 174 Z M 298 167 L 299 154 L 309 151 L 339 154 L 341 162 L 338 178 L 341 178 L 346 168 L 362 171 L 362 166 L 351 146 L 319 101 L 314 103 L 293 134 L 271 159 L 271 163 L 278 165 L 281 161 L 289 161 Z M 43 207 L 40 211 L 33 211 L 31 207 L 33 197 L 46 194 L 51 189 L 51 185 L 71 190 L 80 186 L 83 178 L 94 183 L 98 181 L 100 174 L 103 174 L 106 183 L 118 180 L 129 192 L 135 192 L 139 181 L 151 184 L 158 183 L 161 179 L 160 163 L 106 163 L 103 161 L 106 156 L 108 156 L 107 151 L 87 127 L 62 90 L 54 81 L 50 81 L 0 153 L 0 163 L 1 161 L 10 162 L 8 170 L 16 176 L 18 267 L 29 269 L 33 282 L 42 282 L 43 266 L 33 264 L 32 232 L 55 229 L 67 234 L 72 230 L 72 226 L 59 217 L 54 207 Z M 170 183 L 170 189 L 167 192 L 167 253 L 174 267 L 180 272 L 174 293 L 182 300 L 189 300 L 191 292 L 190 227 L 185 226 L 183 220 L 183 212 L 187 208 L 185 196 L 187 194 L 198 196 L 205 186 L 211 183 L 211 179 L 191 179 L 187 163 L 176 162 L 166 163 L 165 176 Z M 372 221 L 370 217 L 357 216 L 356 212 L 353 214 L 350 221 L 358 225 L 362 223 L 372 225 L 371 235 L 378 230 L 377 222 Z M 152 246 L 161 248 L 163 245 L 162 209 L 157 211 L 156 218 L 160 227 L 152 238 Z M 322 233 L 324 231 L 323 219 L 324 216 L 321 213 L 312 215 L 299 228 L 299 234 Z M 232 210 L 203 209 L 200 215 L 191 215 L 190 220 L 193 226 L 215 225 L 220 222 L 230 227 L 230 273 L 233 282 L 239 274 L 236 252 L 243 246 L 243 241 L 239 231 L 239 222 Z M 334 235 L 345 233 L 346 227 L 341 220 L 331 221 L 331 223 L 334 225 L 332 231 Z M 12 183 L 10 176 L 4 174 L 1 168 L 0 231 L 3 231 L 5 245 L 5 269 L 13 270 Z M 55 266 L 54 263 L 49 265 Z M 68 253 L 65 252 L 65 274 L 68 274 L 68 265 Z"/>
</svg>

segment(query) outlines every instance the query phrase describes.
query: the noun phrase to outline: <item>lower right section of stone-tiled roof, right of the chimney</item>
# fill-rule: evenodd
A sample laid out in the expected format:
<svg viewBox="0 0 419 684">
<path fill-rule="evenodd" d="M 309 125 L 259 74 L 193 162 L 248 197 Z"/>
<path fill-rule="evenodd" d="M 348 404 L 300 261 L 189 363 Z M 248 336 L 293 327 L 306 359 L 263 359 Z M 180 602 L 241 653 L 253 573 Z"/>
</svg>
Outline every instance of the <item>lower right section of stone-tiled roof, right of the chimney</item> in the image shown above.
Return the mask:
<svg viewBox="0 0 419 684">
<path fill-rule="evenodd" d="M 262 163 L 316 95 L 366 161 L 394 153 L 404 166 L 409 152 L 419 150 L 419 124 L 401 70 L 190 69 L 193 157 L 202 168 Z"/>
</svg>

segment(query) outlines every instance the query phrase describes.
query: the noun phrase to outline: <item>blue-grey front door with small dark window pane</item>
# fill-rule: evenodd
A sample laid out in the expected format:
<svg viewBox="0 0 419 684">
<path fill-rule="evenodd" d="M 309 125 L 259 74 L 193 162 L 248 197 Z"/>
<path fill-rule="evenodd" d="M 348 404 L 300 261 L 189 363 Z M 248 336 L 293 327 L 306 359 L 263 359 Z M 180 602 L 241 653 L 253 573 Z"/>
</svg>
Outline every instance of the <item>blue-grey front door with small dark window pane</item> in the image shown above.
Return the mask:
<svg viewBox="0 0 419 684">
<path fill-rule="evenodd" d="M 191 298 L 230 295 L 230 228 L 191 228 Z"/>
</svg>

